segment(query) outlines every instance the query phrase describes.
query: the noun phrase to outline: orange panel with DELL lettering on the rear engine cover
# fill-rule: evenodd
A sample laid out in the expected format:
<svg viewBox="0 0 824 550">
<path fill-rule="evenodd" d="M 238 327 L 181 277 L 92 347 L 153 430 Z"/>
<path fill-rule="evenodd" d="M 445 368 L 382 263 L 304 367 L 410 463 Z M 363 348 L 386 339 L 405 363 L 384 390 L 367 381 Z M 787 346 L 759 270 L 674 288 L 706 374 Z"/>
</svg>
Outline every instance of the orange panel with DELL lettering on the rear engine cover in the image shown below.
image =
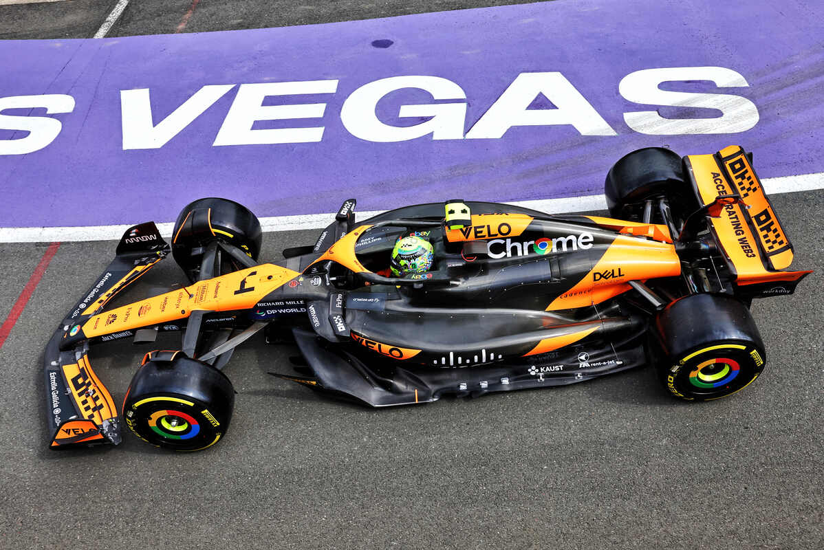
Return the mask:
<svg viewBox="0 0 824 550">
<path fill-rule="evenodd" d="M 592 270 L 569 291 L 555 298 L 546 310 L 598 304 L 630 290 L 627 282 L 680 274 L 681 260 L 674 246 L 618 235 Z"/>
</svg>

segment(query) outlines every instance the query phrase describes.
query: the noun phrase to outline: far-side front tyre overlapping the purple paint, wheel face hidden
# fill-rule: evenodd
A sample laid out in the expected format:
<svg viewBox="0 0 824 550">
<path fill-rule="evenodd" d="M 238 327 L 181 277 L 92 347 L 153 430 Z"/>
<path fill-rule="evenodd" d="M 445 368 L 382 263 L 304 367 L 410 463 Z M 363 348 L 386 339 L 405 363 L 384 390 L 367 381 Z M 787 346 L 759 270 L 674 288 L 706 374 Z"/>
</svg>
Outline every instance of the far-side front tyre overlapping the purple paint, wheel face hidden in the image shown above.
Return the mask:
<svg viewBox="0 0 824 550">
<path fill-rule="evenodd" d="M 171 254 L 191 282 L 198 280 L 205 247 L 213 240 L 235 245 L 257 260 L 263 241 L 260 221 L 248 208 L 227 198 L 199 198 L 187 204 L 171 233 Z M 222 254 L 224 262 L 230 261 L 227 256 Z"/>
</svg>

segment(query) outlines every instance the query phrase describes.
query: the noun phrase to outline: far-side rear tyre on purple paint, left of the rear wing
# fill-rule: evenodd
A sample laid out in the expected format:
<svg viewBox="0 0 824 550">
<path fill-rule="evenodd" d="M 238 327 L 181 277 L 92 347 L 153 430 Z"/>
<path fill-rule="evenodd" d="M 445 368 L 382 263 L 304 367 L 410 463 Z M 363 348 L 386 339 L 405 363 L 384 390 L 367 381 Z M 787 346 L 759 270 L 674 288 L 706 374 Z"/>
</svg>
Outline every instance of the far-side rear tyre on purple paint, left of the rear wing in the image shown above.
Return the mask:
<svg viewBox="0 0 824 550">
<path fill-rule="evenodd" d="M 610 215 L 622 220 L 641 220 L 644 203 L 651 198 L 666 198 L 677 219 L 698 208 L 681 156 L 663 147 L 646 147 L 621 157 L 606 175 L 604 194 Z M 662 222 L 658 216 L 658 208 L 653 208 L 653 221 Z"/>
</svg>

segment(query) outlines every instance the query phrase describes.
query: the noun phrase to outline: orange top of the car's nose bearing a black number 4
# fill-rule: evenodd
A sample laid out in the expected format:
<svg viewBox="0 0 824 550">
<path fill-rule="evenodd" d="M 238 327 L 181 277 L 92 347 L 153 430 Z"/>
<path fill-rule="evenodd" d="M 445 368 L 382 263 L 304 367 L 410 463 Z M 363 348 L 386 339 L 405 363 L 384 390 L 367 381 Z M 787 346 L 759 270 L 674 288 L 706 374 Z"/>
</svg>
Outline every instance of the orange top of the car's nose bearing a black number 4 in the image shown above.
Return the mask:
<svg viewBox="0 0 824 550">
<path fill-rule="evenodd" d="M 243 310 L 254 307 L 269 292 L 299 276 L 297 271 L 263 263 L 93 315 L 83 324 L 83 333 L 93 338 L 168 323 L 184 319 L 194 310 Z"/>
</svg>

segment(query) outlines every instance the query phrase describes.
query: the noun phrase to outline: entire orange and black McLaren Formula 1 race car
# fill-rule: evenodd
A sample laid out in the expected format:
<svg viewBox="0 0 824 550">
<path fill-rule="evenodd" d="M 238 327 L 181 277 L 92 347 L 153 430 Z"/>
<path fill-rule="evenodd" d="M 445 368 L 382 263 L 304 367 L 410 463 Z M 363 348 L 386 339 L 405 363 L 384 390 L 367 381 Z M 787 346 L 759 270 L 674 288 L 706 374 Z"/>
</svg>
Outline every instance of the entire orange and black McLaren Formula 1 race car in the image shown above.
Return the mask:
<svg viewBox="0 0 824 550">
<path fill-rule="evenodd" d="M 257 261 L 260 223 L 246 207 L 202 198 L 172 232 L 190 284 L 105 310 L 170 251 L 154 223 L 133 226 L 46 348 L 49 445 L 116 444 L 121 418 L 153 445 L 213 445 L 234 403 L 222 368 L 260 330 L 301 353 L 279 376 L 373 407 L 645 364 L 681 399 L 749 385 L 766 361 L 751 300 L 791 294 L 811 273 L 785 270 L 793 247 L 751 155 L 641 149 L 611 168 L 605 191 L 611 217 L 452 200 L 355 223 L 350 199 L 314 245 L 273 263 Z M 425 273 L 386 270 L 406 235 L 431 244 Z M 158 331 L 181 331 L 180 348 L 143 357 L 119 412 L 90 344 Z"/>
</svg>

